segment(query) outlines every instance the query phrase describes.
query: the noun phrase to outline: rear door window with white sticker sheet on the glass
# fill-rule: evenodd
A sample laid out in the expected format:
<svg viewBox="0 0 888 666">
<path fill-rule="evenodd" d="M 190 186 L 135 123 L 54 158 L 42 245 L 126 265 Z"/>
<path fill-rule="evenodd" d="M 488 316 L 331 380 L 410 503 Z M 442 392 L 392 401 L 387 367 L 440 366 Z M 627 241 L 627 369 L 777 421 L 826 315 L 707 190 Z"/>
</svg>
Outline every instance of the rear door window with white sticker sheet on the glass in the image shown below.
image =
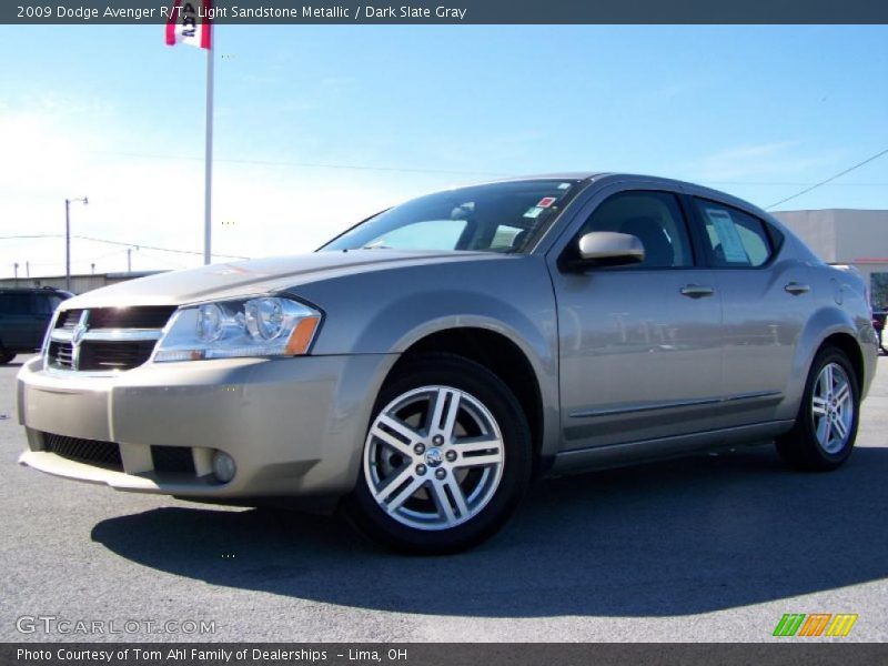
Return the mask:
<svg viewBox="0 0 888 666">
<path fill-rule="evenodd" d="M 748 269 L 768 263 L 771 246 L 761 220 L 705 199 L 694 201 L 706 225 L 713 265 Z"/>
</svg>

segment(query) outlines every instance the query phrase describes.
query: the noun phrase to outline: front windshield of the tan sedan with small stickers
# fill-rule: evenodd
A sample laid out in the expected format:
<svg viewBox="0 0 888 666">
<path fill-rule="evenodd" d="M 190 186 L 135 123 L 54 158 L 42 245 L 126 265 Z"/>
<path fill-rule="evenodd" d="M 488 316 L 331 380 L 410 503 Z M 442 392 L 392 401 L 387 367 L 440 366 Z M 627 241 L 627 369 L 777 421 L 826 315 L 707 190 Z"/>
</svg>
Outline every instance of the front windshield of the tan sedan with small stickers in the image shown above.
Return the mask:
<svg viewBox="0 0 888 666">
<path fill-rule="evenodd" d="M 414 199 L 362 222 L 321 251 L 525 252 L 567 202 L 576 181 L 511 181 Z"/>
</svg>

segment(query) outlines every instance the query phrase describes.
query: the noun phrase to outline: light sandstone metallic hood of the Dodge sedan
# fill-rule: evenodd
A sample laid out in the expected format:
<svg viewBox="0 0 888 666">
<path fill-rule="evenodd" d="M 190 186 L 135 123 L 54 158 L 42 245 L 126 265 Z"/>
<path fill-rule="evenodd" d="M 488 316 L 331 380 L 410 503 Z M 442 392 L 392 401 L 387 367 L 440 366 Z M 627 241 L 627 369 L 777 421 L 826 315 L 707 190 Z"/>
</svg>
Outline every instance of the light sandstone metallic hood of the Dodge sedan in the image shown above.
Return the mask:
<svg viewBox="0 0 888 666">
<path fill-rule="evenodd" d="M 349 250 L 273 256 L 160 273 L 87 292 L 65 301 L 73 307 L 183 305 L 213 299 L 287 291 L 302 284 L 403 266 L 495 261 L 491 252 Z"/>
</svg>

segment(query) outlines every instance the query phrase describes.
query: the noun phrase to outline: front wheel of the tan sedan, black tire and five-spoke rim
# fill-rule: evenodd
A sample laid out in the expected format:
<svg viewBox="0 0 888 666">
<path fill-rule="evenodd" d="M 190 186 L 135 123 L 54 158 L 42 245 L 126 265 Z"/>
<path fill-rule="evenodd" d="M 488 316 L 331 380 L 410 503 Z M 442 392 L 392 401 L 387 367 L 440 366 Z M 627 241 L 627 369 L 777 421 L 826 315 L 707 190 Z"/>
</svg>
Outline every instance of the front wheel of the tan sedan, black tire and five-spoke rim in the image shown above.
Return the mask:
<svg viewBox="0 0 888 666">
<path fill-rule="evenodd" d="M 384 546 L 457 553 L 506 523 L 531 468 L 527 420 L 496 375 L 456 355 L 417 356 L 377 396 L 344 506 Z"/>
</svg>

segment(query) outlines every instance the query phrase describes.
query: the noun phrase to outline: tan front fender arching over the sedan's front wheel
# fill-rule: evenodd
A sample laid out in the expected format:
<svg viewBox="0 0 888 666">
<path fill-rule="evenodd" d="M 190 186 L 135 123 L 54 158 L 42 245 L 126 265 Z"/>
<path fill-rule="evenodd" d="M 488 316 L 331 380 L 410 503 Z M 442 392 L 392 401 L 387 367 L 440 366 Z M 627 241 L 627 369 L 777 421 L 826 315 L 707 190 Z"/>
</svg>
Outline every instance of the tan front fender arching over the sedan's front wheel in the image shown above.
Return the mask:
<svg viewBox="0 0 888 666">
<path fill-rule="evenodd" d="M 557 446 L 557 317 L 542 258 L 376 271 L 303 285 L 294 293 L 325 313 L 313 354 L 400 355 L 417 341 L 452 329 L 503 335 L 525 355 L 539 386 L 544 453 Z"/>
</svg>

